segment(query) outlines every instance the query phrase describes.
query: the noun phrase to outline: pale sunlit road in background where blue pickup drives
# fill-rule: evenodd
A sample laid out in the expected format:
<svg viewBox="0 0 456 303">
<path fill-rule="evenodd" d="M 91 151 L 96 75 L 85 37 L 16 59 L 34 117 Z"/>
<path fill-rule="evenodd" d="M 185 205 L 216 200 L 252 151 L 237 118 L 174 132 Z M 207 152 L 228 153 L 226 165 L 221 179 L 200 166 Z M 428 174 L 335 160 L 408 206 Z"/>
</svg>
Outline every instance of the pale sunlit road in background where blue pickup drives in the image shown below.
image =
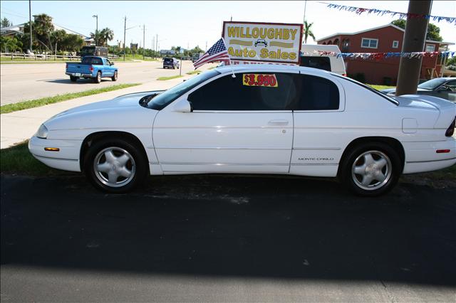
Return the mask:
<svg viewBox="0 0 456 303">
<path fill-rule="evenodd" d="M 120 83 L 146 83 L 162 76 L 179 75 L 179 70 L 164 70 L 162 64 L 161 61 L 116 62 L 115 65 L 119 68 L 118 80 L 113 82 L 109 78 L 103 78 L 100 84 L 85 79 L 72 83 L 69 76 L 65 75 L 65 63 L 0 64 L 0 104 L 81 92 Z M 192 63 L 184 61 L 182 74 L 190 70 L 194 70 Z"/>
</svg>

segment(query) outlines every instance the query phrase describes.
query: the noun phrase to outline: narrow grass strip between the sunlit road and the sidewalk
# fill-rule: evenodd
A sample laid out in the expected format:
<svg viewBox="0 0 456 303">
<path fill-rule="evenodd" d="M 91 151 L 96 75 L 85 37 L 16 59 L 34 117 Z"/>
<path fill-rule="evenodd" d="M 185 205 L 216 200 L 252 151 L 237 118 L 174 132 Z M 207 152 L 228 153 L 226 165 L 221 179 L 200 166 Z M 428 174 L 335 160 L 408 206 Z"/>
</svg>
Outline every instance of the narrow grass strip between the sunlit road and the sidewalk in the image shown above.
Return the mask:
<svg viewBox="0 0 456 303">
<path fill-rule="evenodd" d="M 44 97 L 41 99 L 28 100 L 28 101 L 13 103 L 13 104 L 7 104 L 7 105 L 3 105 L 0 107 L 0 114 L 7 114 L 9 112 L 16 112 L 18 110 L 27 110 L 28 108 L 40 107 L 43 105 L 71 100 L 71 99 L 75 99 L 78 97 L 96 95 L 96 94 L 100 94 L 102 92 L 110 92 L 112 90 L 121 90 L 123 88 L 132 87 L 132 86 L 136 86 L 136 85 L 140 85 L 140 84 L 141 83 L 118 84 L 118 85 L 112 85 L 112 86 L 103 87 L 103 88 L 95 88 L 93 90 L 85 90 L 83 92 L 71 92 L 71 93 L 68 93 L 65 95 L 56 95 L 53 97 Z"/>
</svg>

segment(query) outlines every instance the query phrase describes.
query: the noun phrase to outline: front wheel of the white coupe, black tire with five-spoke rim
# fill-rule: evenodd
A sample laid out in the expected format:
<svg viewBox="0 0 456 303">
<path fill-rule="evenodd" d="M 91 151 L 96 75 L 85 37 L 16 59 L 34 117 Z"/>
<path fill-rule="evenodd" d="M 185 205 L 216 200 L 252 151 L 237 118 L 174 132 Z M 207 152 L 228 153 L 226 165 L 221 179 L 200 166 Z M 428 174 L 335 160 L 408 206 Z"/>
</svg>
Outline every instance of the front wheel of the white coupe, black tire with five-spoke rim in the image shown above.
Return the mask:
<svg viewBox="0 0 456 303">
<path fill-rule="evenodd" d="M 128 160 L 122 160 L 125 156 Z M 93 143 L 88 149 L 83 169 L 95 188 L 108 193 L 127 193 L 142 184 L 147 167 L 147 156 L 142 153 L 141 147 L 128 139 L 106 138 Z M 126 175 L 128 172 L 131 173 L 129 176 Z M 113 174 L 112 179 L 110 174 Z"/>
</svg>

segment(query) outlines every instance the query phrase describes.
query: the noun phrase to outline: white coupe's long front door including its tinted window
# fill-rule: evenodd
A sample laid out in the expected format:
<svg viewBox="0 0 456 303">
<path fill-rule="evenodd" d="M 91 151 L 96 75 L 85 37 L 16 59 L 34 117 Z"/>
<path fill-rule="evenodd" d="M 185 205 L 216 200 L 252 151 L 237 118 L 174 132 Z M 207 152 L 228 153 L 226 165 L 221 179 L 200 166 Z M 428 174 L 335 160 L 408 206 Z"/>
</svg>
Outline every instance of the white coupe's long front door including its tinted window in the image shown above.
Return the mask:
<svg viewBox="0 0 456 303">
<path fill-rule="evenodd" d="M 264 74 L 276 83 L 250 80 Z M 296 95 L 292 73 L 219 75 L 196 87 L 155 118 L 153 141 L 162 171 L 288 173 Z M 192 112 L 172 110 L 182 98 L 192 103 Z"/>
</svg>

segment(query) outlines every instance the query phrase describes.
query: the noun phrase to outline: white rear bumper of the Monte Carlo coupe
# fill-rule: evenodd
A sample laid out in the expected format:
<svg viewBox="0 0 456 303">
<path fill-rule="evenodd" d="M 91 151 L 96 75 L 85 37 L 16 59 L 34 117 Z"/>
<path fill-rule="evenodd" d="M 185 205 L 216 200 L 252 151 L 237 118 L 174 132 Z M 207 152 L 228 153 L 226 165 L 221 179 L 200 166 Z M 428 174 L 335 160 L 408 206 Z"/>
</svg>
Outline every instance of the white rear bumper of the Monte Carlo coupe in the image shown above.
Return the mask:
<svg viewBox="0 0 456 303">
<path fill-rule="evenodd" d="M 403 142 L 405 149 L 404 174 L 445 169 L 456 164 L 456 139 L 437 142 Z M 437 153 L 449 149 L 450 152 Z"/>
</svg>

